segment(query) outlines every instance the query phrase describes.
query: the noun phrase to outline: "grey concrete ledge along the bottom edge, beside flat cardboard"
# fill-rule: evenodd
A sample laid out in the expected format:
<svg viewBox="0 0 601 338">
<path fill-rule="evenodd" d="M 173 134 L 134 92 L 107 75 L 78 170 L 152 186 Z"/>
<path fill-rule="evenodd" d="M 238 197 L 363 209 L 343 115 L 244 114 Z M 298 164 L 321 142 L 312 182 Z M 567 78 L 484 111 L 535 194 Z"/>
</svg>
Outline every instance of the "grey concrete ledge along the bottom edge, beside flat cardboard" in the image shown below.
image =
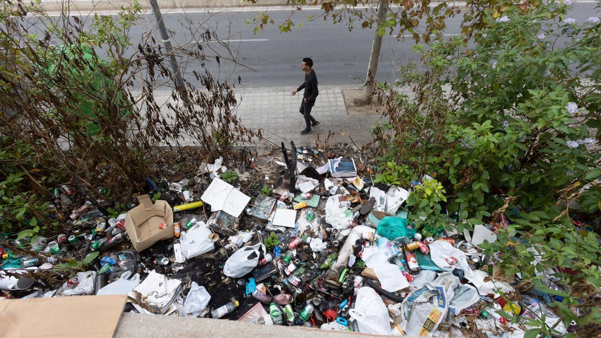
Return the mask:
<svg viewBox="0 0 601 338">
<path fill-rule="evenodd" d="M 258 325 L 225 319 L 190 318 L 162 315 L 123 313 L 115 337 L 286 337 L 286 338 L 342 338 L 386 337 L 348 331 L 326 331 L 307 327 Z"/>
</svg>

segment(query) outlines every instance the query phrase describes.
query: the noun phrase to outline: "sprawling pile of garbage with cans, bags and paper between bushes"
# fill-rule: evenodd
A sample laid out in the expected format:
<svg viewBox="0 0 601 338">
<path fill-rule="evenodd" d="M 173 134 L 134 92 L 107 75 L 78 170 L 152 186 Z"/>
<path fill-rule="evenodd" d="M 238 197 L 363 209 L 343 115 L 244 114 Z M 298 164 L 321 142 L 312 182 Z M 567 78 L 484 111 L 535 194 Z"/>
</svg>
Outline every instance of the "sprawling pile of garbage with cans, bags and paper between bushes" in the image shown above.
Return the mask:
<svg viewBox="0 0 601 338">
<path fill-rule="evenodd" d="M 291 146 L 282 144 L 284 161 L 248 158 L 252 184 L 244 174 L 230 184 L 218 159 L 189 179 L 148 179 L 168 200 L 138 195 L 116 217 L 87 200 L 67 218 L 69 234 L 33 243 L 7 234 L 0 289 L 15 298 L 123 294 L 126 312 L 396 336 L 523 336 L 528 327 L 499 310 L 558 321 L 483 254 L 495 226 L 418 232 L 403 208 L 411 187 L 374 183 L 361 156 Z M 57 203 L 72 195 L 55 191 Z"/>
</svg>

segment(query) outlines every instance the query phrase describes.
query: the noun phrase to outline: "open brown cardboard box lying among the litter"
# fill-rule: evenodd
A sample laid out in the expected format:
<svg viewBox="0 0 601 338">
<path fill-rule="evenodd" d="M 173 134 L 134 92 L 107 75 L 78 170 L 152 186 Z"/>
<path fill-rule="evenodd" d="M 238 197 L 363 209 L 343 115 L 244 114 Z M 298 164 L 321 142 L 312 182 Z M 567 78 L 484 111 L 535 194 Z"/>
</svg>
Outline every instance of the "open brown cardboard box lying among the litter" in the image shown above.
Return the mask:
<svg viewBox="0 0 601 338">
<path fill-rule="evenodd" d="M 129 210 L 124 224 L 133 248 L 142 251 L 162 239 L 172 238 L 173 210 L 169 203 L 158 200 L 153 204 L 148 195 L 138 196 L 138 201 L 140 205 Z M 159 229 L 161 223 L 167 224 L 165 229 Z"/>
</svg>

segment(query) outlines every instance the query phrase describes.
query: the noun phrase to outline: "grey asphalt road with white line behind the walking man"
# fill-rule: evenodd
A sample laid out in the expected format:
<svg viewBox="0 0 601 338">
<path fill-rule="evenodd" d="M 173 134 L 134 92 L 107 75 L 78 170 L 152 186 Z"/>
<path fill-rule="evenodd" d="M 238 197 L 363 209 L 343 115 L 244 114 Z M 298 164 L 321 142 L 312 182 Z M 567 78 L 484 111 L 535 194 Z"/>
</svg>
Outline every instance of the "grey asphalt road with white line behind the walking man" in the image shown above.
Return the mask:
<svg viewBox="0 0 601 338">
<path fill-rule="evenodd" d="M 577 22 L 584 22 L 590 16 L 601 14 L 595 14 L 594 7 L 593 2 L 575 2 L 569 16 Z M 233 80 L 240 76 L 243 87 L 296 88 L 303 81 L 301 60 L 303 57 L 311 57 L 320 84 L 358 86 L 363 84 L 373 41 L 373 29 L 362 29 L 356 24 L 356 27 L 349 31 L 345 24 L 334 25 L 330 19 L 317 19 L 306 22 L 302 28 L 293 28 L 291 32 L 282 33 L 277 26 L 268 24 L 263 31 L 254 34 L 252 19 L 258 13 L 258 11 L 248 10 L 207 13 L 198 10 L 187 11 L 184 14 L 169 13 L 165 10 L 163 16 L 166 27 L 174 32 L 174 45 L 194 40 L 190 28 L 198 29 L 196 38 L 201 41 L 200 33 L 206 26 L 215 29 L 221 39 L 229 37 L 231 49 L 234 49 L 232 56 L 239 64 L 223 59 L 220 64 L 215 60 L 206 63 L 207 69 L 213 76 L 221 80 Z M 282 22 L 289 13 L 289 10 L 267 11 L 276 23 Z M 305 10 L 297 13 L 294 19 L 306 20 L 307 16 L 318 16 L 319 13 L 321 13 L 319 10 Z M 245 25 L 245 20 L 251 23 Z M 457 34 L 459 24 L 460 17 L 448 19 L 445 37 Z M 130 31 L 130 38 L 134 45 L 137 45 L 144 34 L 148 32 L 156 34 L 155 26 L 154 16 L 150 12 L 144 14 L 141 22 Z M 413 40 L 410 38 L 397 41 L 394 36 L 385 35 L 377 79 L 392 82 L 398 78 L 395 65 L 417 59 L 412 46 Z M 220 47 L 218 43 L 209 43 L 207 48 L 227 55 L 225 48 Z M 193 69 L 204 72 L 199 63 L 186 60 L 182 60 L 182 63 L 186 64 L 186 72 L 191 72 Z M 186 75 L 186 79 L 195 82 L 191 75 Z"/>
</svg>

